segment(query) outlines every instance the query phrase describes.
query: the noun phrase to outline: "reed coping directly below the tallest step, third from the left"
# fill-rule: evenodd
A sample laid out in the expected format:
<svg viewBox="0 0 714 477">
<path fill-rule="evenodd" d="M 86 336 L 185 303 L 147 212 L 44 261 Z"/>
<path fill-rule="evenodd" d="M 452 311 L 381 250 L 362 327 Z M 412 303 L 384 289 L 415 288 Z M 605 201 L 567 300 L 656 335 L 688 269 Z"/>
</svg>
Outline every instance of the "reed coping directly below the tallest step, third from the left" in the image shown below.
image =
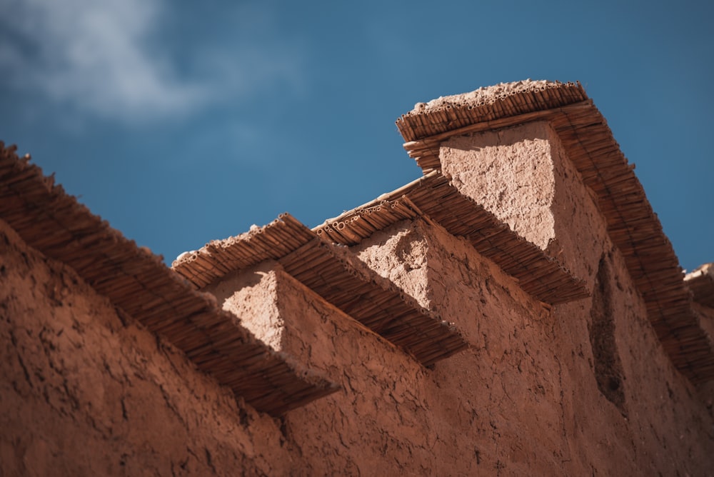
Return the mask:
<svg viewBox="0 0 714 477">
<path fill-rule="evenodd" d="M 355 245 L 377 230 L 417 216 L 454 236 L 466 237 L 479 253 L 518 279 L 521 288 L 540 301 L 565 303 L 588 296 L 582 280 L 461 194 L 438 170 L 328 219 L 315 231 L 327 241 Z"/>
</svg>

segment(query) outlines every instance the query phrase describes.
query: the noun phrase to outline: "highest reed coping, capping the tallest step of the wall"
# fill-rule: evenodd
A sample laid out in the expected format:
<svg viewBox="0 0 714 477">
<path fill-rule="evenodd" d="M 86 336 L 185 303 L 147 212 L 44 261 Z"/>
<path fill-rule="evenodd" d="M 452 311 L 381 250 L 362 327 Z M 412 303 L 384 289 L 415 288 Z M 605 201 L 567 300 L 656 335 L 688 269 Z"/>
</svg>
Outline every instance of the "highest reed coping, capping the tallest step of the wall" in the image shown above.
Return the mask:
<svg viewBox="0 0 714 477">
<path fill-rule="evenodd" d="M 610 238 L 622 251 L 675 367 L 693 383 L 713 379 L 714 349 L 691 309 L 679 261 L 607 121 L 580 84 L 532 83 L 499 85 L 507 93 L 491 94 L 493 101 L 478 106 L 469 104 L 468 94 L 454 96 L 456 106 L 445 106 L 446 116 L 443 110 L 415 109 L 397 121 L 405 149 L 424 171 L 432 171 L 441 166 L 439 144 L 450 136 L 550 121 L 583 182 L 595 191 Z"/>
</svg>

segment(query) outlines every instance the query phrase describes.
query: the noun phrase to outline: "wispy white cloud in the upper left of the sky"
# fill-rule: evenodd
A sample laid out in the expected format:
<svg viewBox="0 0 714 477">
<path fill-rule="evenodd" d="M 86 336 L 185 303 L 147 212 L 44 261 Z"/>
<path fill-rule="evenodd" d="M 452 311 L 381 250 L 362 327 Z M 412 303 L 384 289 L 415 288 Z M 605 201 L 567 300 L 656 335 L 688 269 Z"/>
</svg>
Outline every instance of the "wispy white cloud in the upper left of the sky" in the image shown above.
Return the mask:
<svg viewBox="0 0 714 477">
<path fill-rule="evenodd" d="M 211 51 L 188 59 L 201 76 L 178 74 L 156 34 L 166 13 L 162 0 L 14 0 L 2 8 L 0 68 L 11 71 L 11 86 L 105 117 L 186 113 L 239 98 L 266 77 L 296 75 L 294 61 L 220 45 L 193 50 Z"/>
</svg>

